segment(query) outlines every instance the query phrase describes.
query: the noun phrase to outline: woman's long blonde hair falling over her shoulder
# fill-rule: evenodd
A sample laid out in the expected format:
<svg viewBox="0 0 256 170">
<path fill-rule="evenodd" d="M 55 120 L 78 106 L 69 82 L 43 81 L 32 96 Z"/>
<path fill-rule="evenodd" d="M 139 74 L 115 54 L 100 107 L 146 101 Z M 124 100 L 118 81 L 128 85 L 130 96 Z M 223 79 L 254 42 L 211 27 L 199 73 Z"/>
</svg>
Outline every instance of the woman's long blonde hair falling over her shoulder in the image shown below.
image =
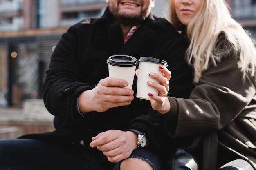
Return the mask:
<svg viewBox="0 0 256 170">
<path fill-rule="evenodd" d="M 182 31 L 182 24 L 178 20 L 174 0 L 169 0 L 170 22 L 178 31 Z M 184 31 L 184 30 L 183 30 Z M 228 54 L 230 46 L 224 46 L 226 51 L 216 49 L 216 42 L 221 32 L 225 32 L 227 40 L 236 51 L 239 61 L 238 67 L 246 73 L 254 76 L 256 67 L 256 48 L 243 27 L 238 24 L 229 13 L 229 7 L 225 0 L 202 0 L 200 10 L 192 18 L 186 27 L 186 35 L 190 40 L 186 51 L 186 59 L 193 64 L 194 82 L 198 83 L 202 72 L 208 68 L 209 61 L 215 66 Z"/>
</svg>

